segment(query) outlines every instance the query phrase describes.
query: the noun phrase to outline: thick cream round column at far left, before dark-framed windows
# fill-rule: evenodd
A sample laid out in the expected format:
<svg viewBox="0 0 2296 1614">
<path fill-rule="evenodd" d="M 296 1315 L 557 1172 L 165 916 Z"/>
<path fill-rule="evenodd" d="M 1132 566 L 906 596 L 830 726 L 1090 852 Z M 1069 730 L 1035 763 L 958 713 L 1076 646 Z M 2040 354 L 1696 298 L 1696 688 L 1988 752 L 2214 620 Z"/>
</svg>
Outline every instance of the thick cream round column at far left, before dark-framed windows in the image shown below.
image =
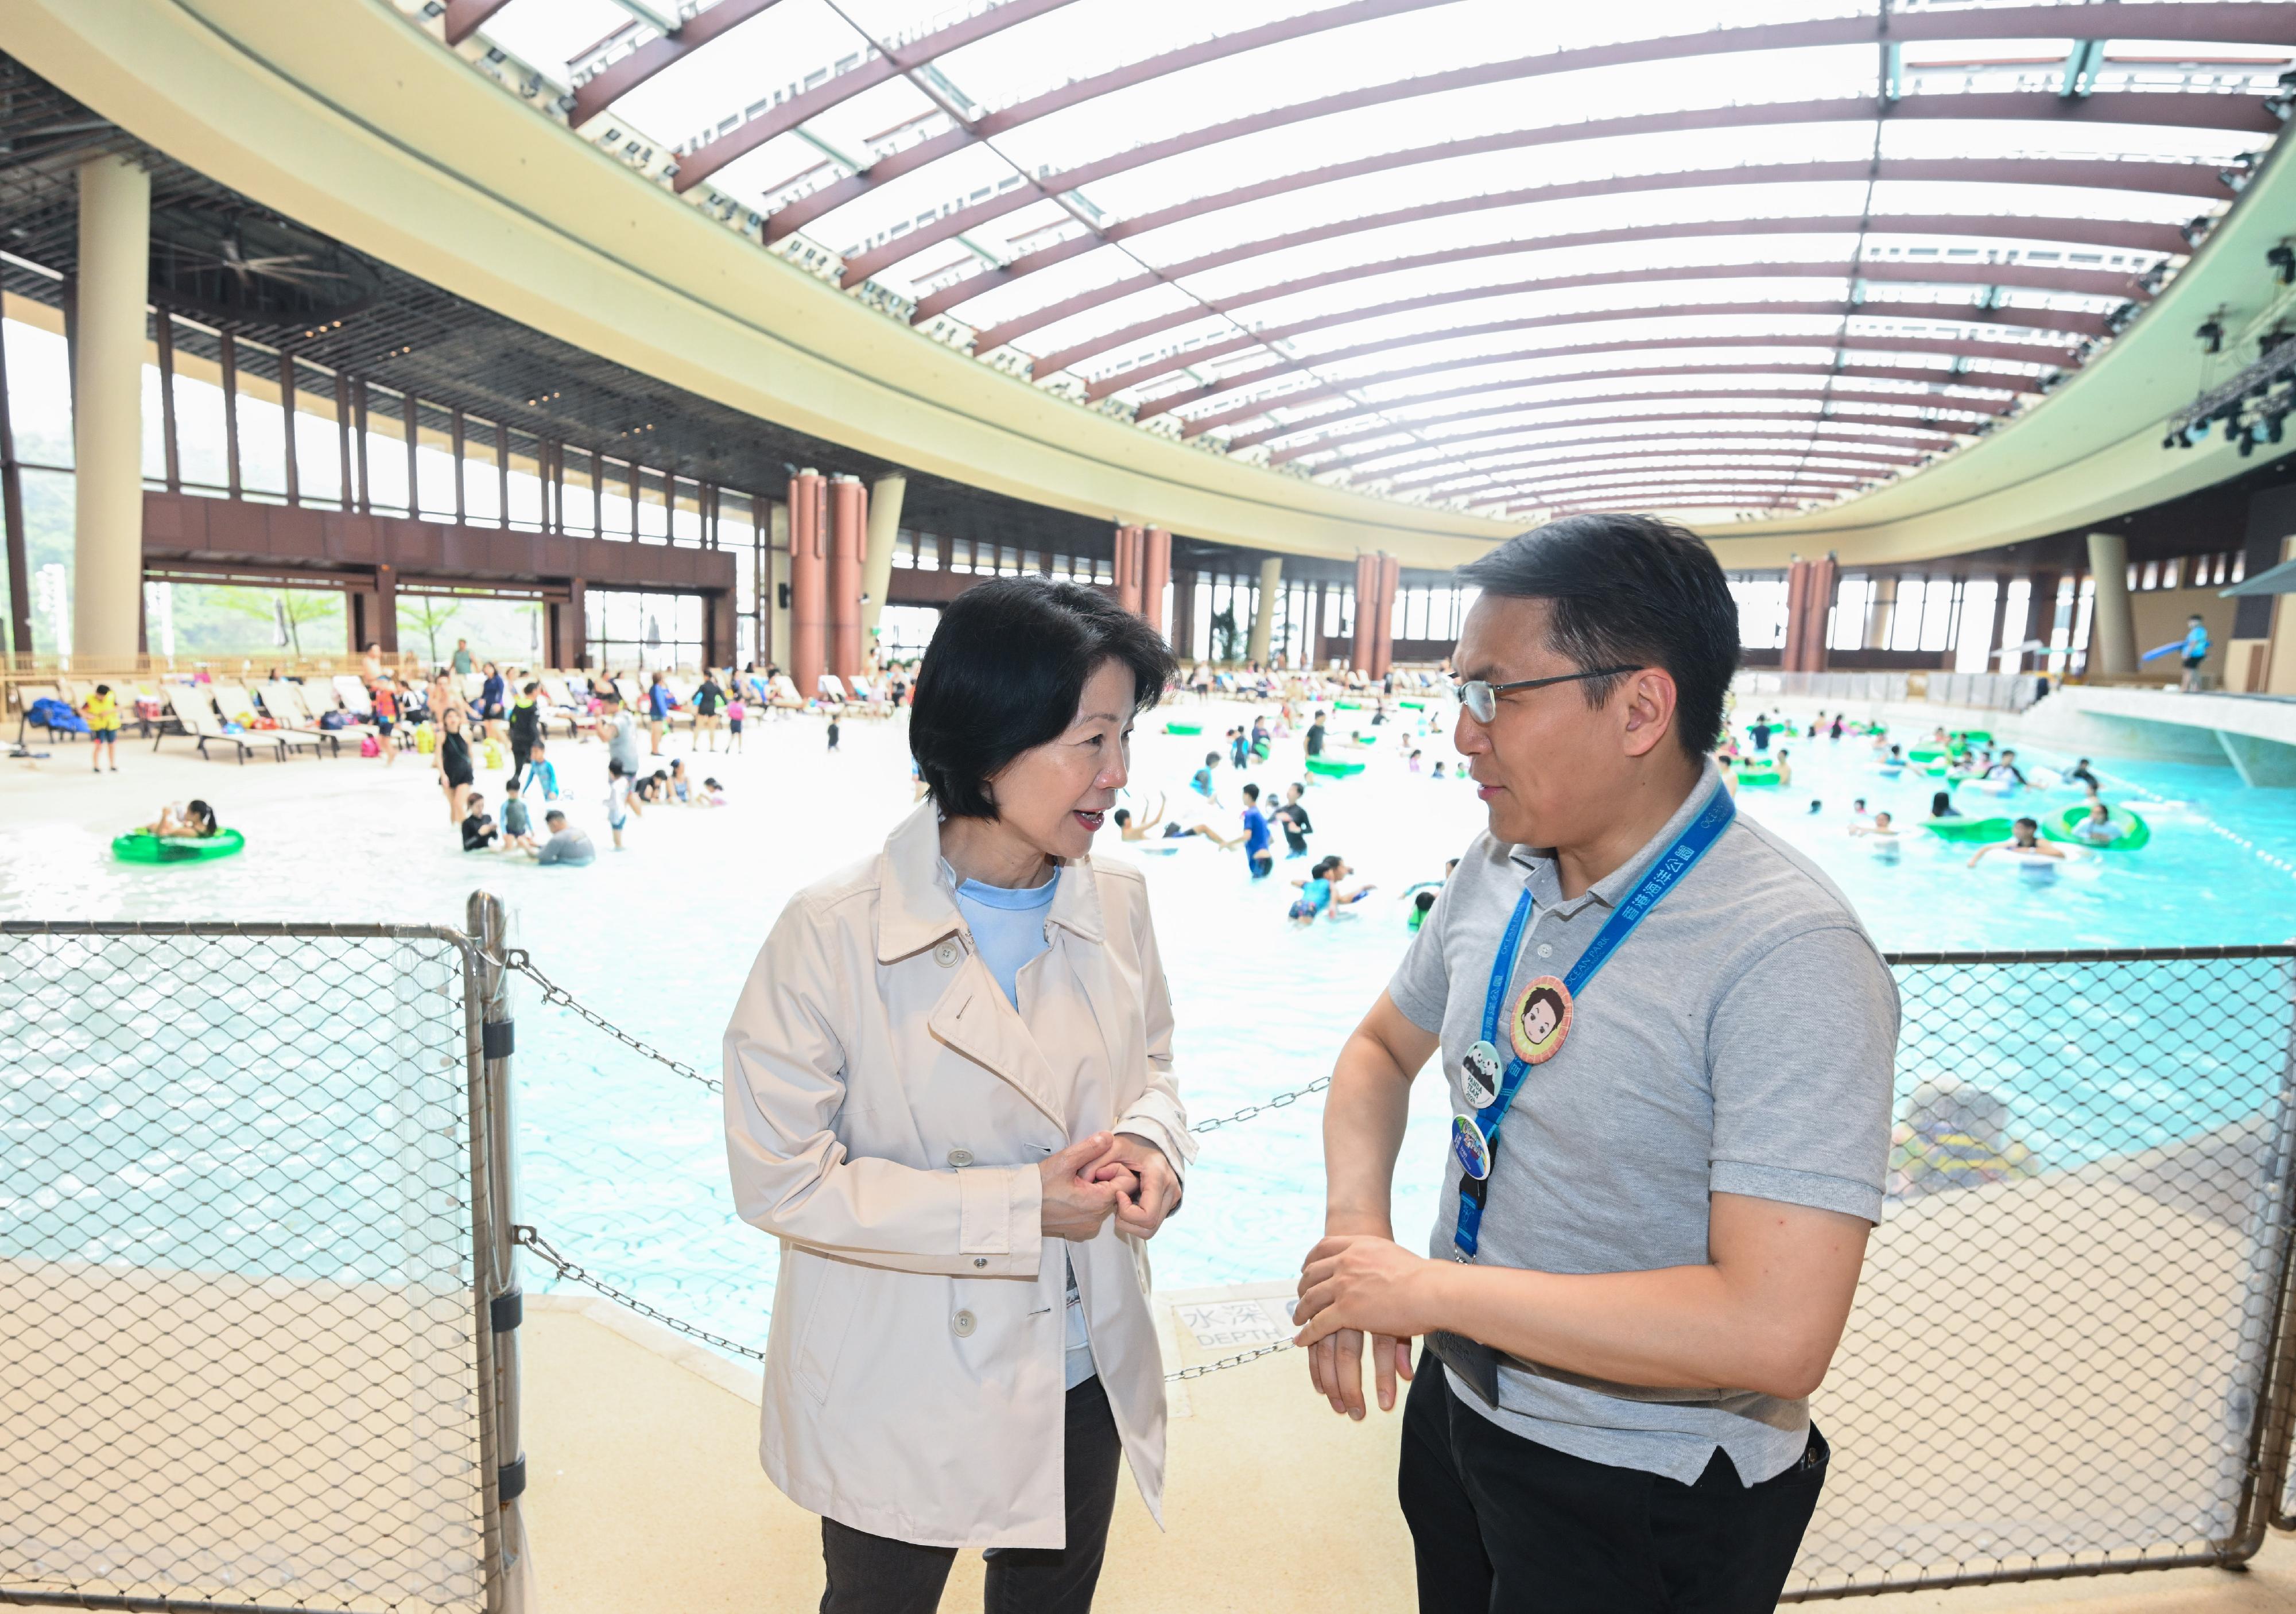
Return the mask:
<svg viewBox="0 0 2296 1614">
<path fill-rule="evenodd" d="M 117 156 L 80 163 L 73 351 L 71 647 L 135 657 L 142 629 L 142 344 L 152 273 L 152 174 Z"/>
</svg>

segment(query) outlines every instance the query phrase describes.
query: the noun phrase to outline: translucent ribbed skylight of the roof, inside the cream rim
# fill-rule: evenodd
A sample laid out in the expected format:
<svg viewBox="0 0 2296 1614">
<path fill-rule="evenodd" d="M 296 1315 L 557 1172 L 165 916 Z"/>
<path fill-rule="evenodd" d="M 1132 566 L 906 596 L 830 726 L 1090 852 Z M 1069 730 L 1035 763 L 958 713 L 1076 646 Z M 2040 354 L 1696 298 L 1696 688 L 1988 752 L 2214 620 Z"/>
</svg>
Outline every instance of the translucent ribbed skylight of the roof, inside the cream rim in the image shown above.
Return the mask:
<svg viewBox="0 0 2296 1614">
<path fill-rule="evenodd" d="M 1525 464 L 1639 450 L 1651 503 L 1736 510 L 1924 464 L 2138 312 L 2296 62 L 2266 0 L 1713 14 L 457 0 L 448 37 L 1040 386 L 1508 517 L 1593 487 Z"/>
</svg>

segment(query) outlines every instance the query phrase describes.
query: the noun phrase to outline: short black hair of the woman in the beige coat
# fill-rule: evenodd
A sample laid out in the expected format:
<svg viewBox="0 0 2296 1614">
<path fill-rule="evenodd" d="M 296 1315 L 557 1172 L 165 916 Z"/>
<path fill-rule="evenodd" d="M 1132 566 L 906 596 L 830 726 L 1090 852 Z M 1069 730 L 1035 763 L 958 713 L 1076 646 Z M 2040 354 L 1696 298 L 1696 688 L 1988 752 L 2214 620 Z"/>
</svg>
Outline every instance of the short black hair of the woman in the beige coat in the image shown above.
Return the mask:
<svg viewBox="0 0 2296 1614">
<path fill-rule="evenodd" d="M 909 705 L 909 755 L 948 817 L 996 817 L 987 781 L 1068 732 L 1107 661 L 1132 673 L 1146 712 L 1178 670 L 1141 618 L 1084 583 L 1001 576 L 957 595 L 932 629 Z"/>
</svg>

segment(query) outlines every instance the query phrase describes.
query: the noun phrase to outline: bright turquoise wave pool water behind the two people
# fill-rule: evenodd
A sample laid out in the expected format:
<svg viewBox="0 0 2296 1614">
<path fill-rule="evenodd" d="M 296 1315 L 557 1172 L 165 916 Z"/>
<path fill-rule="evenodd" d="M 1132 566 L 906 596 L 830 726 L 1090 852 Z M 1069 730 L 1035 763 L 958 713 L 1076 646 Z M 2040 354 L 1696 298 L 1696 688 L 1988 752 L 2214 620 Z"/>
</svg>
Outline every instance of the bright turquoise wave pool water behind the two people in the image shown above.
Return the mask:
<svg viewBox="0 0 2296 1614">
<path fill-rule="evenodd" d="M 1164 735 L 1164 716 L 1201 719 L 1212 735 Z M 1217 769 L 1224 808 L 1187 792 L 1217 732 L 1251 707 L 1182 700 L 1148 714 L 1134 748 L 1130 806 L 1182 822 L 1233 827 L 1238 787 L 1272 794 L 1302 778 L 1297 739 L 1244 771 Z M 1352 716 L 1352 714 L 1350 714 Z M 1359 725 L 1359 723 L 1357 723 Z M 1339 725 L 1334 725 L 1334 735 Z M 1467 783 L 1410 774 L 1380 730 L 1371 767 L 1316 783 L 1313 852 L 1339 852 L 1380 891 L 1350 918 L 1297 930 L 1288 879 L 1306 863 L 1279 856 L 1254 884 L 1240 852 L 1189 843 L 1143 856 L 1178 1008 L 1178 1072 L 1199 1118 L 1231 1113 L 1329 1072 L 1332 1056 L 1391 973 L 1405 941 L 1405 886 L 1435 879 L 1483 822 Z M 845 723 L 843 753 L 822 751 L 813 721 L 755 723 L 739 758 L 700 758 L 726 781 L 723 810 L 664 810 L 638 820 L 622 854 L 590 870 L 540 870 L 466 856 L 450 836 L 429 771 L 402 760 L 296 762 L 271 771 L 202 771 L 223 820 L 248 852 L 191 868 L 110 861 L 119 824 L 41 820 L 0 845 L 0 911 L 94 918 L 326 918 L 459 923 L 473 886 L 512 907 L 514 939 L 560 985 L 634 1035 L 709 1072 L 742 976 L 788 895 L 872 852 L 909 810 L 898 723 Z M 684 746 L 680 737 L 677 748 Z M 1424 765 L 1456 767 L 1442 730 L 1417 737 Z M 1883 946 L 2018 948 L 2183 941 L 2278 941 L 2296 932 L 2296 792 L 2245 790 L 2229 769 L 2099 760 L 2112 799 L 2133 799 L 2154 824 L 2142 852 L 2101 854 L 2053 877 L 1963 868 L 1954 849 L 1910 831 L 1894 861 L 1846 833 L 1853 797 L 1903 822 L 1926 813 L 1929 778 L 1887 781 L 1862 742 L 1786 742 L 1791 790 L 1743 790 L 1745 813 L 1800 845 L 1857 905 Z M 558 746 L 576 822 L 604 847 L 604 755 Z M 1343 744 L 1341 755 L 1355 755 Z M 2027 760 L 2069 762 L 2027 753 Z M 131 769 L 135 758 L 131 755 Z M 1451 771 L 1446 767 L 1446 774 Z M 211 785 L 207 781 L 214 781 Z M 2147 806 L 2163 797 L 2186 806 Z M 2076 797 L 2050 794 L 2064 806 Z M 1809 804 L 1818 801 L 1818 813 Z M 535 804 L 540 808 L 540 804 Z M 2023 806 L 2023 804 L 2020 804 Z M 1986 815 L 1986 797 L 1965 801 Z M 1114 847 L 1114 831 L 1104 833 Z M 1281 849 L 1281 843 L 1279 843 Z M 519 983 L 521 1217 L 572 1258 L 675 1316 L 732 1338 L 762 1341 L 774 1244 L 732 1219 L 716 1100 L 636 1058 Z M 1988 1072 L 1991 1077 L 1993 1072 Z M 1913 1072 L 1908 1072 L 1908 1081 Z M 2014 1079 L 2014 1072 L 2011 1072 Z M 2161 1139 L 2188 1127 L 2183 1079 L 2110 1095 L 2124 1118 Z M 2094 1097 L 2094 1095 L 2092 1095 Z M 2050 1107 L 2064 1093 L 2018 1093 L 2020 1127 L 2071 1141 Z M 1309 1097 L 1203 1136 L 1187 1210 L 1157 1237 L 1166 1288 L 1279 1279 L 1322 1226 L 1320 1100 Z M 1435 1215 L 1446 1116 L 1437 1081 L 1419 1081 L 1396 1178 L 1396 1231 L 1417 1242 Z M 2055 1127 L 2055 1132 L 2050 1132 Z M 528 1274 L 540 1281 L 540 1272 Z"/>
</svg>

